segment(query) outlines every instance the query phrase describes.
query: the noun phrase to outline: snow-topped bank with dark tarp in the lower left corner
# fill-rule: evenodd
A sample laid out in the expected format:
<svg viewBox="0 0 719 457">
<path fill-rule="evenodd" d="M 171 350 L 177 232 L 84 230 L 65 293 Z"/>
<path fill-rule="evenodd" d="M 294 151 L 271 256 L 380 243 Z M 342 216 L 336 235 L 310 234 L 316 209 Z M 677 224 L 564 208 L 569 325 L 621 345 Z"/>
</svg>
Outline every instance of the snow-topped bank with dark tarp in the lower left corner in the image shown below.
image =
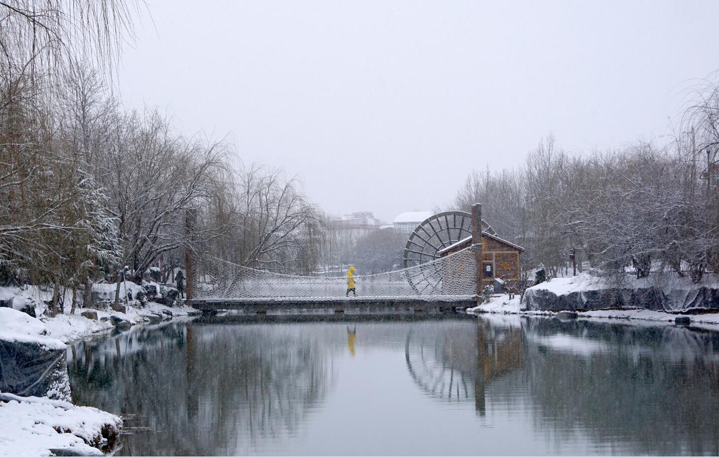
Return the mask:
<svg viewBox="0 0 719 457">
<path fill-rule="evenodd" d="M 122 420 L 66 401 L 65 350 L 42 321 L 0 308 L 0 390 L 5 391 L 0 392 L 0 456 L 101 456 L 112 450 Z"/>
</svg>

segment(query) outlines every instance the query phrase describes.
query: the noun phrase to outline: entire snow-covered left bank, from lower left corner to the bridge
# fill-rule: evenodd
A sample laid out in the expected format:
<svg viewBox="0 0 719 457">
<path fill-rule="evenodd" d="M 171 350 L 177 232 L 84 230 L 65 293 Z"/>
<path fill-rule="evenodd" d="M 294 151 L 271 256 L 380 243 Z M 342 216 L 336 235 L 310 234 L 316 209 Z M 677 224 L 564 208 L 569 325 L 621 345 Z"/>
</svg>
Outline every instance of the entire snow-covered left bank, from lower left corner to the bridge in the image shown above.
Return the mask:
<svg viewBox="0 0 719 457">
<path fill-rule="evenodd" d="M 37 293 L 34 289 L 0 288 L 0 296 L 9 304 L 25 309 L 29 305 L 42 313 L 42 297 L 32 295 Z M 0 307 L 0 456 L 102 456 L 104 451 L 112 451 L 122 420 L 65 401 L 70 400 L 65 344 L 115 328 L 196 314 L 196 309 L 185 305 L 168 307 L 137 300 L 129 302 L 124 312 L 105 303 L 101 309 L 78 308 L 73 314 L 65 307 L 64 313 L 55 317 L 41 314 L 39 319 Z"/>
</svg>

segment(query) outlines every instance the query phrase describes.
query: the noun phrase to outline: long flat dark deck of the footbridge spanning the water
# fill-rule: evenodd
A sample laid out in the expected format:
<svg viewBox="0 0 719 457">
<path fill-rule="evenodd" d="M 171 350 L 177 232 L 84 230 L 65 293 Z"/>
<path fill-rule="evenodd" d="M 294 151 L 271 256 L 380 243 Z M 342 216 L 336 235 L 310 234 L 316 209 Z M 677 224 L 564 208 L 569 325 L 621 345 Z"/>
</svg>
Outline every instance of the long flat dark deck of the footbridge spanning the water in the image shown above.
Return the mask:
<svg viewBox="0 0 719 457">
<path fill-rule="evenodd" d="M 192 299 L 192 307 L 216 309 L 315 309 L 369 307 L 468 307 L 477 303 L 475 295 L 441 295 L 427 297 L 261 297 L 233 299 Z"/>
</svg>

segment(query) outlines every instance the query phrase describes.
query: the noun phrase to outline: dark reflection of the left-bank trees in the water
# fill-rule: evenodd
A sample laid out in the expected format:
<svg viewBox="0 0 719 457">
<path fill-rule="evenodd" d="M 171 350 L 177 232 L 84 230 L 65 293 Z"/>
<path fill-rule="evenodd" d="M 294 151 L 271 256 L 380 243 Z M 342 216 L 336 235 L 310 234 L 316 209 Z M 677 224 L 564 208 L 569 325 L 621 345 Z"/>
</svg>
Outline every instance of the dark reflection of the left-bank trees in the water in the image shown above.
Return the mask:
<svg viewBox="0 0 719 457">
<path fill-rule="evenodd" d="M 188 322 L 78 343 L 73 394 L 127 417 L 131 433 L 157 431 L 125 440 L 122 454 L 243 453 L 252 440 L 296 430 L 331 384 L 316 339 L 274 330 Z"/>
</svg>

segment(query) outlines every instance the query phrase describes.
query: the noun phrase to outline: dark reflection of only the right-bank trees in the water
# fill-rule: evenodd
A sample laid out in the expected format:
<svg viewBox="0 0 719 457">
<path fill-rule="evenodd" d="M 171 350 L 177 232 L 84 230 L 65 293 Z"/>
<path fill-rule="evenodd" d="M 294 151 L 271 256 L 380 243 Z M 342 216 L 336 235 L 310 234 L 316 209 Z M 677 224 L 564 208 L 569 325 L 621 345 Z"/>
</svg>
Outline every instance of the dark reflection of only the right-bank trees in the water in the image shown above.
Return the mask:
<svg viewBox="0 0 719 457">
<path fill-rule="evenodd" d="M 523 330 L 540 433 L 583 430 L 618 453 L 719 454 L 719 333 L 546 319 Z"/>
</svg>

